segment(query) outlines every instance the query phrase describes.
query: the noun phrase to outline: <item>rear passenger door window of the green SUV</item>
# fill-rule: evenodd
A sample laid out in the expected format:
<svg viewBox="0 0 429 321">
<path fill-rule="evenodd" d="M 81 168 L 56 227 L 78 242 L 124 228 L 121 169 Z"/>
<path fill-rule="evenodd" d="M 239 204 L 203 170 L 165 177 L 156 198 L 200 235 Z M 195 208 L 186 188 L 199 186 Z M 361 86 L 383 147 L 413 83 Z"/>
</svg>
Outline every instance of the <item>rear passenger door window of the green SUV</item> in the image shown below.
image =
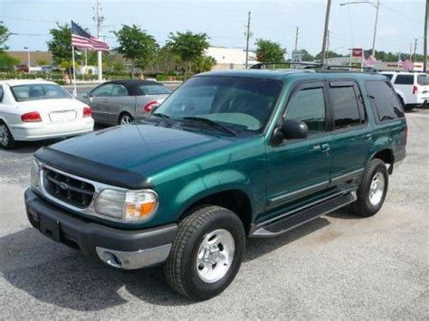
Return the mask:
<svg viewBox="0 0 429 321">
<path fill-rule="evenodd" d="M 330 92 L 335 129 L 364 123 L 365 118 L 360 116 L 358 97 L 354 86 L 332 87 Z"/>
</svg>

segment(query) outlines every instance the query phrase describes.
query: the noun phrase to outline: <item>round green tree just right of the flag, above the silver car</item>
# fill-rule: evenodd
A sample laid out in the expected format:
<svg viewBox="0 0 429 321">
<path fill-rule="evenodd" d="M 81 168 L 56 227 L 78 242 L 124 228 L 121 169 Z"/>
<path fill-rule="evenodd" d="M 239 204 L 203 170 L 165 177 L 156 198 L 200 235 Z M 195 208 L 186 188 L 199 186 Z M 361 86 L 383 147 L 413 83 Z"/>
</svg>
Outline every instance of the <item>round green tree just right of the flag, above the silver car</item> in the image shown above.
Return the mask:
<svg viewBox="0 0 429 321">
<path fill-rule="evenodd" d="M 133 77 L 135 66 L 143 70 L 153 61 L 157 52 L 157 41 L 145 30 L 135 24 L 130 26 L 122 24 L 122 28 L 114 34 L 119 43 L 116 50 L 131 61 Z"/>
</svg>

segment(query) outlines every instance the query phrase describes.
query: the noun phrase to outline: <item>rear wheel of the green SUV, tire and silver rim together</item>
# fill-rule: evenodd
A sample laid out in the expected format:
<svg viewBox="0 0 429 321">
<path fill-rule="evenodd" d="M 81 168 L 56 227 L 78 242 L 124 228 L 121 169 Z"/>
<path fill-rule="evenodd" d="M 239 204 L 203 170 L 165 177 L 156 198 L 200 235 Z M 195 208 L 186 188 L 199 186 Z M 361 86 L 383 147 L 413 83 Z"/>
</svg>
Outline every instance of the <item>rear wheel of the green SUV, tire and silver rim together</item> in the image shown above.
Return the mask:
<svg viewBox="0 0 429 321">
<path fill-rule="evenodd" d="M 354 211 L 363 217 L 375 215 L 386 199 L 389 175 L 385 162 L 372 159 L 358 187 L 358 200 L 353 203 Z"/>
</svg>

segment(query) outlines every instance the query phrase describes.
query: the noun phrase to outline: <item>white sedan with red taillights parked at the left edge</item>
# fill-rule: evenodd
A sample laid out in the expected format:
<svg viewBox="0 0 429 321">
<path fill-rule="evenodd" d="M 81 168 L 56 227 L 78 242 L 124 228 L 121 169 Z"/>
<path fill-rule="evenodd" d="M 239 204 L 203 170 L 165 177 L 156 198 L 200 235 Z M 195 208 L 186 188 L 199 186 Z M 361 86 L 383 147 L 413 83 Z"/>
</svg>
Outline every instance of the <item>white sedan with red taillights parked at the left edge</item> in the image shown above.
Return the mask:
<svg viewBox="0 0 429 321">
<path fill-rule="evenodd" d="M 0 146 L 91 132 L 91 108 L 45 80 L 0 81 Z"/>
</svg>

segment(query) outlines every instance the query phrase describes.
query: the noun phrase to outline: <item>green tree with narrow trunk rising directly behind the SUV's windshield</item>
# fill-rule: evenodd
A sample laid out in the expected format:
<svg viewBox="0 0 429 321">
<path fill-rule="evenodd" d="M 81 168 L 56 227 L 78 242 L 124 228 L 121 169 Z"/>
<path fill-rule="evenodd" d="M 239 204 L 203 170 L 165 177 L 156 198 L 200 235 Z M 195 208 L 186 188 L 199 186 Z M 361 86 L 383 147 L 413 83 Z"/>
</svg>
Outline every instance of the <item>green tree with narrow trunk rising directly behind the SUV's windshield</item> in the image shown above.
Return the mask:
<svg viewBox="0 0 429 321">
<path fill-rule="evenodd" d="M 204 57 L 204 51 L 209 46 L 208 36 L 205 33 L 170 33 L 167 48 L 180 58 L 185 69 L 185 78 L 193 63 Z"/>
</svg>

